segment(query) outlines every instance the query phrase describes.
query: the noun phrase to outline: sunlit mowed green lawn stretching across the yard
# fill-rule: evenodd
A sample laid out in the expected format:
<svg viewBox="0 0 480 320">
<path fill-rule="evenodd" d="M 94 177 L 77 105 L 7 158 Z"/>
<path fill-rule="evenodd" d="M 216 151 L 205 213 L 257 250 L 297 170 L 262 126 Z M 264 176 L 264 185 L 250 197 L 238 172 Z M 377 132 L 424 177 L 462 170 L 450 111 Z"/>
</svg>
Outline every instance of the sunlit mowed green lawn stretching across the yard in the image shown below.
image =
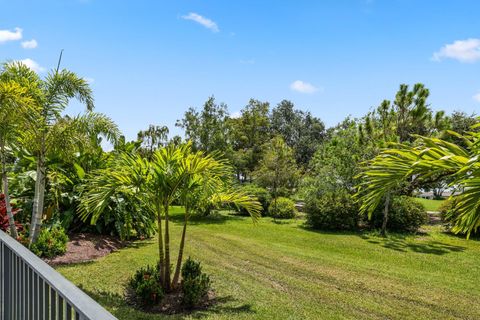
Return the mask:
<svg viewBox="0 0 480 320">
<path fill-rule="evenodd" d="M 438 226 L 383 239 L 216 215 L 193 221 L 187 237 L 187 255 L 202 261 L 219 299 L 209 310 L 151 315 L 124 303 L 128 278 L 157 260 L 155 239 L 58 270 L 124 320 L 480 318 L 480 243 Z"/>
</svg>

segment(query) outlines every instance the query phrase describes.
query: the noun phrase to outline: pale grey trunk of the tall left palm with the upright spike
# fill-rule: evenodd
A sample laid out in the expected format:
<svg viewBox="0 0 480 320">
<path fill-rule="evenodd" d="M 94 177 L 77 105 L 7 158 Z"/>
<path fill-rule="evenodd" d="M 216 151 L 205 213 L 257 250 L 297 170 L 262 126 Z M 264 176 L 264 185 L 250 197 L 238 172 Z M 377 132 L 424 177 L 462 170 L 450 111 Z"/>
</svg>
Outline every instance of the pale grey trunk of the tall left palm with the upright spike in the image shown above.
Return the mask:
<svg viewBox="0 0 480 320">
<path fill-rule="evenodd" d="M 45 199 L 45 156 L 41 153 L 37 162 L 37 181 L 35 182 L 35 195 L 33 198 L 32 220 L 30 222 L 30 244 L 37 241 L 42 228 L 43 201 Z"/>
</svg>

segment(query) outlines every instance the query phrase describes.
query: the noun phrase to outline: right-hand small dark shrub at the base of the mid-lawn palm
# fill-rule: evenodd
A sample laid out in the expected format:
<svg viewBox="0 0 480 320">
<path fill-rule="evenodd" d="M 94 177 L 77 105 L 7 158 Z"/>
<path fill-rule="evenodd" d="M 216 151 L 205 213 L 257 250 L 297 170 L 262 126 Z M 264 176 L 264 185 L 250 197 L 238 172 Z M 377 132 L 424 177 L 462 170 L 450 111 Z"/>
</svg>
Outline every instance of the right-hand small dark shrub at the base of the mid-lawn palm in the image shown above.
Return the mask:
<svg viewBox="0 0 480 320">
<path fill-rule="evenodd" d="M 210 278 L 202 272 L 200 262 L 190 257 L 182 266 L 182 303 L 187 308 L 198 305 L 208 294 Z"/>
</svg>

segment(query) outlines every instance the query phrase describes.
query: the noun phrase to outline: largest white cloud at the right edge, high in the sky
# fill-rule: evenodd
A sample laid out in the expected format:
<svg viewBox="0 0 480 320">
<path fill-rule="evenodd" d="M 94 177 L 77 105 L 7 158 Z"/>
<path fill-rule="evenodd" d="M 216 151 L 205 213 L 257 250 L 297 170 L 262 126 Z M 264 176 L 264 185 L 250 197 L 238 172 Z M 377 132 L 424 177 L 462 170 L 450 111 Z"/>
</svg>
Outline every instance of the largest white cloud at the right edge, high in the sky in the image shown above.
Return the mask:
<svg viewBox="0 0 480 320">
<path fill-rule="evenodd" d="M 480 39 L 457 40 L 446 44 L 433 54 L 434 61 L 455 59 L 460 62 L 473 63 L 480 60 Z"/>
</svg>

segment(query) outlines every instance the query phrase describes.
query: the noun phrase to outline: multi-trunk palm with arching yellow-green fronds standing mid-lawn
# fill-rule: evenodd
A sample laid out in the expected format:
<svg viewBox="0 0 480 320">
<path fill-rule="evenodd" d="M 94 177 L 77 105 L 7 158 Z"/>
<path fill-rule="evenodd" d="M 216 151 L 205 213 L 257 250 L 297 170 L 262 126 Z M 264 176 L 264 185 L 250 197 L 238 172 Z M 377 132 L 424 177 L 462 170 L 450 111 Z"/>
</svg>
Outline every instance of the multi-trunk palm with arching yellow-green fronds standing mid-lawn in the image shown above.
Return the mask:
<svg viewBox="0 0 480 320">
<path fill-rule="evenodd" d="M 170 291 L 178 283 L 185 234 L 191 209 L 196 208 L 200 189 L 208 190 L 213 203 L 234 203 L 247 209 L 253 217 L 258 217 L 261 205 L 253 197 L 236 191 L 229 191 L 222 180 L 230 166 L 223 160 L 201 151 L 193 152 L 191 143 L 176 146 L 173 144 L 158 149 L 153 160 L 148 162 L 139 155 L 122 153 L 112 163 L 110 169 L 93 172 L 87 179 L 86 190 L 81 198 L 80 216 L 91 217 L 94 224 L 105 208 L 110 197 L 118 190 L 129 194 L 130 201 L 140 201 L 146 208 L 156 213 L 158 228 L 158 252 L 160 281 L 165 291 Z M 181 245 L 175 267 L 174 280 L 170 274 L 170 206 L 180 199 L 186 207 Z M 162 219 L 163 218 L 163 219 Z"/>
</svg>

